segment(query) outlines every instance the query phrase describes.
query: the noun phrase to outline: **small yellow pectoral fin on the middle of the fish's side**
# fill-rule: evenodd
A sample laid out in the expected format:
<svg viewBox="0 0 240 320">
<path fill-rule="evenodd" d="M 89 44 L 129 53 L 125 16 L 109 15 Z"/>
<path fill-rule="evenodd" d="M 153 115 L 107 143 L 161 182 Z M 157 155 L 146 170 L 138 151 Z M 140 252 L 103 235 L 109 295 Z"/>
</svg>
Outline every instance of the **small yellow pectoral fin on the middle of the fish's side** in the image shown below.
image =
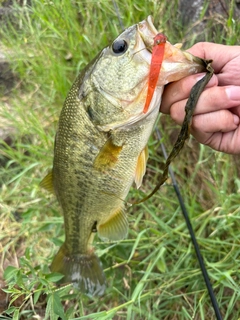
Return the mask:
<svg viewBox="0 0 240 320">
<path fill-rule="evenodd" d="M 116 146 L 112 142 L 112 139 L 109 138 L 97 155 L 94 161 L 94 167 L 101 171 L 112 168 L 118 161 L 121 150 L 122 146 Z"/>
</svg>

